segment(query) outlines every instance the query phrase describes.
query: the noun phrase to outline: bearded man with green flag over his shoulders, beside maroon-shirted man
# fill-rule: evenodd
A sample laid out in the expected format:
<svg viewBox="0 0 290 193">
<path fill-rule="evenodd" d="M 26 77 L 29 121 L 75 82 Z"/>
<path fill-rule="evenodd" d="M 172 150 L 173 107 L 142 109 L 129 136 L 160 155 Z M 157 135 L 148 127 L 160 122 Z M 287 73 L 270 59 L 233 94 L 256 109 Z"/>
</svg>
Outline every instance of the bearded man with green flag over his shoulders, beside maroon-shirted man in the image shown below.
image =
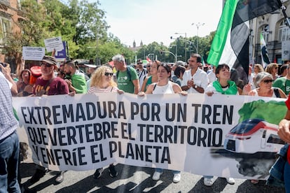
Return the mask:
<svg viewBox="0 0 290 193">
<path fill-rule="evenodd" d="M 69 79 L 66 79 L 67 85 L 71 92 L 76 94 L 85 94 L 87 92 L 87 83 L 83 76 L 76 74 L 76 65 L 72 61 L 67 61 L 64 64 L 64 73 Z"/>
</svg>

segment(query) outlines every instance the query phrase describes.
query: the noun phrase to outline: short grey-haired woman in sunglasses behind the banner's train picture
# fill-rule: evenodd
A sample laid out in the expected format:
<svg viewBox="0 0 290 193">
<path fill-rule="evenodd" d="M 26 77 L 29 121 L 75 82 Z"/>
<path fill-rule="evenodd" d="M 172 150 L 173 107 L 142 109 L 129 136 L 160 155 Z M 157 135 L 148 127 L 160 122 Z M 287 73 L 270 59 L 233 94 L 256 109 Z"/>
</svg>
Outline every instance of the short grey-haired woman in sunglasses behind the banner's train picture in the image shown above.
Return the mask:
<svg viewBox="0 0 290 193">
<path fill-rule="evenodd" d="M 268 96 L 286 99 L 286 94 L 279 88 L 272 87 L 273 78 L 270 73 L 258 73 L 254 81 L 256 89 L 249 91 L 251 96 Z"/>
</svg>

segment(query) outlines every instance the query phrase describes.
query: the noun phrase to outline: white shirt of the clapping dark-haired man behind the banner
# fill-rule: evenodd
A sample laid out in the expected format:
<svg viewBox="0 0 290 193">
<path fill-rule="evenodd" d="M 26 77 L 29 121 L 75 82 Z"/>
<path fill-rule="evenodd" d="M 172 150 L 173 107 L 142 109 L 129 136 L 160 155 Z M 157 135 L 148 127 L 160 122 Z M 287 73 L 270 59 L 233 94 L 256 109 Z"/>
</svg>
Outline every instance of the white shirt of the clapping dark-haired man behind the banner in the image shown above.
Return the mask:
<svg viewBox="0 0 290 193">
<path fill-rule="evenodd" d="M 207 78 L 207 73 L 201 69 L 198 68 L 198 70 L 191 76 L 191 70 L 184 72 L 184 77 L 181 82 L 181 87 L 187 85 L 187 81 L 193 79 L 193 83 L 195 85 L 198 85 L 198 87 L 202 87 L 204 90 L 209 84 L 209 80 Z M 189 90 L 187 90 L 188 93 L 200 93 L 197 90 L 195 90 L 193 87 L 191 87 Z"/>
</svg>

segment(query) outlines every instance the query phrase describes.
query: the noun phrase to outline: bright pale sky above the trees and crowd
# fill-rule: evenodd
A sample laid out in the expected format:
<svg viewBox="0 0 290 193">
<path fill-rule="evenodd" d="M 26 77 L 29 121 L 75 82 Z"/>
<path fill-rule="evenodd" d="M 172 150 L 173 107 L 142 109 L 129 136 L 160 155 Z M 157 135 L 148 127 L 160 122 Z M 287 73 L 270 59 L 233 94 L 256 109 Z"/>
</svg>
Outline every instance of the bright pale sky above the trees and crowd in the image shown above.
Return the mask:
<svg viewBox="0 0 290 193">
<path fill-rule="evenodd" d="M 93 0 L 89 0 L 93 2 Z M 215 31 L 222 0 L 99 0 L 106 12 L 109 32 L 132 47 L 163 42 L 170 45 L 178 36 L 207 36 Z M 194 23 L 194 24 L 193 24 Z M 196 24 L 202 24 L 197 27 Z M 192 25 L 193 24 L 193 25 Z M 180 33 L 180 34 L 175 34 Z"/>
</svg>

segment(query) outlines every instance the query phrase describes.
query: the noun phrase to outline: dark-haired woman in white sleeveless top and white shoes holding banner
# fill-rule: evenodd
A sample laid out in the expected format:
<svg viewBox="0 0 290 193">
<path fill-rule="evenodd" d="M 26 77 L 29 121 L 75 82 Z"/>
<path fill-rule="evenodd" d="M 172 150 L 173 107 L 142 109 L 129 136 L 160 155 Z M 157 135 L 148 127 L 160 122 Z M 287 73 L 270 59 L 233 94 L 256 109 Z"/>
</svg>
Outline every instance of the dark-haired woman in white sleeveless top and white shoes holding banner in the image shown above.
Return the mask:
<svg viewBox="0 0 290 193">
<path fill-rule="evenodd" d="M 158 82 L 149 85 L 146 92 L 139 92 L 139 96 L 144 96 L 145 94 L 187 94 L 187 92 L 181 90 L 181 87 L 179 85 L 170 81 L 171 68 L 167 64 L 161 63 L 160 65 L 158 65 L 157 76 Z M 152 179 L 156 181 L 159 180 L 162 173 L 163 169 L 155 169 Z M 172 173 L 174 173 L 173 182 L 179 183 L 179 181 L 181 180 L 180 171 L 172 171 Z"/>
</svg>

